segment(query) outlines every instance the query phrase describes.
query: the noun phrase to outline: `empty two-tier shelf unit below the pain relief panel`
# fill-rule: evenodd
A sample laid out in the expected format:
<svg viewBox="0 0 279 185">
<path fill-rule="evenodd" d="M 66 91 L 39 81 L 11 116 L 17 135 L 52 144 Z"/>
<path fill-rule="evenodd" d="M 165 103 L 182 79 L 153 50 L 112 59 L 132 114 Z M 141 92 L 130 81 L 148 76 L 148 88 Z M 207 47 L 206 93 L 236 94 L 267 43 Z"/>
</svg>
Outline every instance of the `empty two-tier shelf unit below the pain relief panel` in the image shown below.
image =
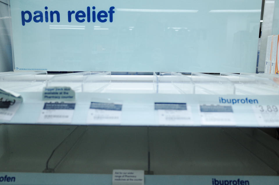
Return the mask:
<svg viewBox="0 0 279 185">
<path fill-rule="evenodd" d="M 90 182 L 105 184 L 108 179 L 111 182 L 111 175 L 105 174 L 120 168 L 145 170 L 145 184 L 183 184 L 196 177 L 204 180 L 201 184 L 212 183 L 212 178 L 277 182 L 279 141 L 257 128 L 278 127 L 277 122 L 258 121 L 248 102 L 226 104 L 233 109 L 234 124 L 201 120 L 200 106 L 223 105 L 220 98 L 278 105 L 277 76 L 260 75 L 154 73 L 128 78 L 110 72 L 2 73 L 0 86 L 8 84 L 4 89 L 19 93 L 23 102 L 12 120 L 1 120 L 0 176 L 26 174 L 30 178 L 33 173 L 39 173 L 36 177 L 47 173 L 45 177 L 54 178 L 59 173 L 65 175 L 59 178 L 66 183 L 67 178 L 90 174 Z M 18 79 L 25 85 L 16 88 Z M 43 88 L 65 85 L 75 91 L 72 122 L 38 124 L 45 102 Z M 256 86 L 273 91 L 254 91 Z M 92 101 L 120 102 L 121 122 L 88 124 Z M 192 122 L 160 122 L 155 102 L 187 103 Z"/>
</svg>

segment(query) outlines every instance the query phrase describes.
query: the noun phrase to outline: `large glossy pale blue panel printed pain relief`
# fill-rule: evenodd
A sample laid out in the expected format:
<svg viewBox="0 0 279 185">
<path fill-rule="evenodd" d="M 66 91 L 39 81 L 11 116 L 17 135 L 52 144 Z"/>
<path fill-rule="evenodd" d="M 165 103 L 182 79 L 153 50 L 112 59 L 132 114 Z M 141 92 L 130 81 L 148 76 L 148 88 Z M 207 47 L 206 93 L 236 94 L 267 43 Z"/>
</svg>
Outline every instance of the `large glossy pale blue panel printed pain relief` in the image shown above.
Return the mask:
<svg viewBox="0 0 279 185">
<path fill-rule="evenodd" d="M 15 70 L 255 72 L 261 0 L 11 0 Z"/>
</svg>

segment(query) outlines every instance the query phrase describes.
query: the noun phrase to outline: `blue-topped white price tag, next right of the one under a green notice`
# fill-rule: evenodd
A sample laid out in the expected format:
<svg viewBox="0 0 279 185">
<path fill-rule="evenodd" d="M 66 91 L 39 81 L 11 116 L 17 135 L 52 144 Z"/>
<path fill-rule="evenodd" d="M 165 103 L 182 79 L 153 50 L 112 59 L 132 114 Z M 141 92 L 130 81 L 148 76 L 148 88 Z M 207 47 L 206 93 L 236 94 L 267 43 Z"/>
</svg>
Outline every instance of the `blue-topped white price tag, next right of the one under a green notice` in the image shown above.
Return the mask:
<svg viewBox="0 0 279 185">
<path fill-rule="evenodd" d="M 122 104 L 91 102 L 87 115 L 87 123 L 120 124 Z"/>
</svg>

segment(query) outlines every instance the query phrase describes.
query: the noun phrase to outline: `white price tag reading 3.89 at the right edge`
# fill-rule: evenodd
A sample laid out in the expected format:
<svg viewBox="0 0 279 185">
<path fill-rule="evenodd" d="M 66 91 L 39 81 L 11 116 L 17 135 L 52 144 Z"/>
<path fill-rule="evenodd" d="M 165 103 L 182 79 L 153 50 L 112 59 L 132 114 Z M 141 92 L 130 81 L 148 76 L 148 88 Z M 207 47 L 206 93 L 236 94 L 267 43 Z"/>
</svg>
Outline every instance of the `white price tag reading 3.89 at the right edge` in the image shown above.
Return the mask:
<svg viewBox="0 0 279 185">
<path fill-rule="evenodd" d="M 260 126 L 278 126 L 279 105 L 253 105 L 252 108 Z"/>
</svg>

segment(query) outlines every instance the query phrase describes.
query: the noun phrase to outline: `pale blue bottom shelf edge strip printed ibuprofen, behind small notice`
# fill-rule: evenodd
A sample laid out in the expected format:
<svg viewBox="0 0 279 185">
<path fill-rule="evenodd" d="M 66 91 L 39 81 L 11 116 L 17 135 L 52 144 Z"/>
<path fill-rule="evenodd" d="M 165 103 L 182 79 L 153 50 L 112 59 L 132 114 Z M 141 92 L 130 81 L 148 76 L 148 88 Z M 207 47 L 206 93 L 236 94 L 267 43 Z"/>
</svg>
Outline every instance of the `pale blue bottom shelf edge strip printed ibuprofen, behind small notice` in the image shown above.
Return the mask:
<svg viewBox="0 0 279 185">
<path fill-rule="evenodd" d="M 278 185 L 278 176 L 230 176 L 230 175 L 144 175 L 144 184 L 204 184 L 204 185 Z M 12 173 L 1 172 L 0 184 L 112 184 L 109 174 L 62 173 Z"/>
</svg>

